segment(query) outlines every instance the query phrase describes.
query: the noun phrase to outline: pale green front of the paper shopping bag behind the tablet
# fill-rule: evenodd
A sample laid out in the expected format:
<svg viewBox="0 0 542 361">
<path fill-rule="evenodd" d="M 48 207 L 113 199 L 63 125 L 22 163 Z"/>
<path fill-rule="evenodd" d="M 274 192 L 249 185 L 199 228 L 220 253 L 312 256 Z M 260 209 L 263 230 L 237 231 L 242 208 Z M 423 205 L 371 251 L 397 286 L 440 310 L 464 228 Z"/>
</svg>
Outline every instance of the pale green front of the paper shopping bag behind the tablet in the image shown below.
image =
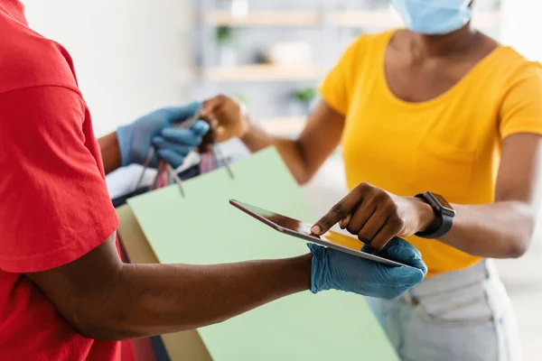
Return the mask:
<svg viewBox="0 0 542 361">
<path fill-rule="evenodd" d="M 129 199 L 162 264 L 220 264 L 303 255 L 304 241 L 282 235 L 229 205 L 238 199 L 315 220 L 278 153 L 269 148 L 231 166 Z M 150 252 L 147 250 L 146 252 Z M 397 360 L 363 297 L 302 292 L 199 329 L 216 361 Z"/>
</svg>

